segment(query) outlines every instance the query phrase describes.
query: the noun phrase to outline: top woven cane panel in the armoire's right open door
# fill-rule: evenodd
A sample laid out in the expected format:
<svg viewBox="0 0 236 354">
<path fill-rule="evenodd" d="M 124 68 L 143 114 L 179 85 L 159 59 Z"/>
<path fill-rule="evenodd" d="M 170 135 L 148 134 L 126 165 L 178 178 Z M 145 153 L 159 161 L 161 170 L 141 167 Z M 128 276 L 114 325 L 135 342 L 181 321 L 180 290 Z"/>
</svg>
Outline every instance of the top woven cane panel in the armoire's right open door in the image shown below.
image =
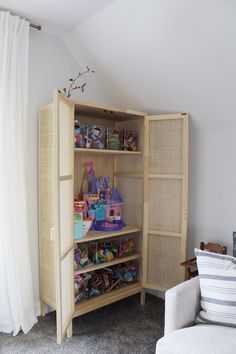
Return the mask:
<svg viewBox="0 0 236 354">
<path fill-rule="evenodd" d="M 183 120 L 150 121 L 149 173 L 182 174 Z"/>
</svg>

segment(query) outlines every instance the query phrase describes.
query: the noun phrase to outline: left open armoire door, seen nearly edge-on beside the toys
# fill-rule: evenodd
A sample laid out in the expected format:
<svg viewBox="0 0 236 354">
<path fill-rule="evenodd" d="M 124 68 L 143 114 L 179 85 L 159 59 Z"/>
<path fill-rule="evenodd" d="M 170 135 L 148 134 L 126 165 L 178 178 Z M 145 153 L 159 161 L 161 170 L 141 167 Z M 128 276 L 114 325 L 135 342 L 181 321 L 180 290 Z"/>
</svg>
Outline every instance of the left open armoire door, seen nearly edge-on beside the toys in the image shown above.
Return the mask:
<svg viewBox="0 0 236 354">
<path fill-rule="evenodd" d="M 56 230 L 57 342 L 72 335 L 74 313 L 74 103 L 54 93 L 54 112 L 58 125 L 58 213 Z"/>
</svg>

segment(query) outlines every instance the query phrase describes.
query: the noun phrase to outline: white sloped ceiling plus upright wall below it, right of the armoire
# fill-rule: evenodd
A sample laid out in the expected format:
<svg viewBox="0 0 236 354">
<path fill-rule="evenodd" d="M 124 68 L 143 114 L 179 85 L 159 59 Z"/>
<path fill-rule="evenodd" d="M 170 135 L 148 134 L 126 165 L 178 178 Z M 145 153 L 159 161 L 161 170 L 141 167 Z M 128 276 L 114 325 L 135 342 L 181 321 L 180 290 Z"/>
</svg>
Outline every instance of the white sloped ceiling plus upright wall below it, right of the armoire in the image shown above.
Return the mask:
<svg viewBox="0 0 236 354">
<path fill-rule="evenodd" d="M 64 38 L 97 71 L 96 101 L 191 115 L 189 256 L 200 241 L 232 250 L 235 16 L 234 0 L 117 0 Z"/>
</svg>

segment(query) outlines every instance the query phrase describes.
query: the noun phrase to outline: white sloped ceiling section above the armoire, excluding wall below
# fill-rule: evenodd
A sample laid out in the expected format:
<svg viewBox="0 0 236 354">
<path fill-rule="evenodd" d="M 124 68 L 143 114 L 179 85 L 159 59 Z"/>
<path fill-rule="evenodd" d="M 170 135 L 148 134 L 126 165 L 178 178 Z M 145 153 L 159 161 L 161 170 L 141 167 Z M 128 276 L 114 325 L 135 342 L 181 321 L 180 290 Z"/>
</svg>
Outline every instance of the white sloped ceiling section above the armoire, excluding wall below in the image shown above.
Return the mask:
<svg viewBox="0 0 236 354">
<path fill-rule="evenodd" d="M 64 37 L 110 103 L 234 125 L 236 2 L 117 0 Z M 97 86 L 96 86 L 97 88 Z"/>
</svg>

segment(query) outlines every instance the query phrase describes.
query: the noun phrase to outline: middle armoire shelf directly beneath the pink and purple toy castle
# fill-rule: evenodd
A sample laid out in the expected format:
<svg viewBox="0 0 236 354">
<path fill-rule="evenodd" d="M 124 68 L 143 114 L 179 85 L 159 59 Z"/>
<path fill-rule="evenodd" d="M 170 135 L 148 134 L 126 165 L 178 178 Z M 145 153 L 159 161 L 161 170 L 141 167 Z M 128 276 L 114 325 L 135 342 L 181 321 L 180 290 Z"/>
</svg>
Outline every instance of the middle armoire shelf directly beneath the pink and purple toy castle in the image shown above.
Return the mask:
<svg viewBox="0 0 236 354">
<path fill-rule="evenodd" d="M 104 238 L 116 237 L 126 234 L 132 234 L 134 232 L 140 232 L 140 227 L 135 226 L 125 226 L 119 231 L 89 231 L 85 237 L 80 240 L 75 240 L 74 243 L 85 243 L 95 240 L 101 240 Z"/>
</svg>

